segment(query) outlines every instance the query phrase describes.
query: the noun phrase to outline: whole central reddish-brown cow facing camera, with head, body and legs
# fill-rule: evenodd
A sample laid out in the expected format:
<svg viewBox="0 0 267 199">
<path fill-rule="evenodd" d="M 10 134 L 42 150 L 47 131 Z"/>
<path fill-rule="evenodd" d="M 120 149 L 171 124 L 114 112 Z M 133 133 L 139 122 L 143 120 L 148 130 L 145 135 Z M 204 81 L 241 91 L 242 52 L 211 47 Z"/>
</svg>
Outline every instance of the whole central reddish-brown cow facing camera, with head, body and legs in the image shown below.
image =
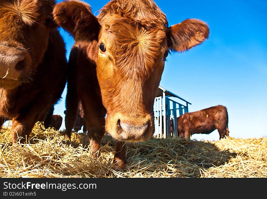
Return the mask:
<svg viewBox="0 0 267 199">
<path fill-rule="evenodd" d="M 97 157 L 106 131 L 117 141 L 114 162 L 124 167 L 125 142 L 154 134 L 154 98 L 169 51 L 201 44 L 209 28 L 197 19 L 169 27 L 152 0 L 112 0 L 97 17 L 90 5 L 70 0 L 53 14 L 76 41 L 69 57 L 66 138 L 81 100 L 91 152 Z"/>
</svg>

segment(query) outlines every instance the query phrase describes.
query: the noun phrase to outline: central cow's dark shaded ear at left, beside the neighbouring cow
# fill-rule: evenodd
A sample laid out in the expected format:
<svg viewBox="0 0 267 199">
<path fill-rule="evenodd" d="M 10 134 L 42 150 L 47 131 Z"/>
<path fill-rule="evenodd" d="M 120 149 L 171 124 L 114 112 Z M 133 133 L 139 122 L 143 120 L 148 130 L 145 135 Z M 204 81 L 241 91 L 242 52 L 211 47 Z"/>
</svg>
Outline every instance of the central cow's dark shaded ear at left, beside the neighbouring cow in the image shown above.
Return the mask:
<svg viewBox="0 0 267 199">
<path fill-rule="evenodd" d="M 63 1 L 53 10 L 55 22 L 73 35 L 75 41 L 98 38 L 100 24 L 92 14 L 89 4 L 77 1 Z"/>
</svg>

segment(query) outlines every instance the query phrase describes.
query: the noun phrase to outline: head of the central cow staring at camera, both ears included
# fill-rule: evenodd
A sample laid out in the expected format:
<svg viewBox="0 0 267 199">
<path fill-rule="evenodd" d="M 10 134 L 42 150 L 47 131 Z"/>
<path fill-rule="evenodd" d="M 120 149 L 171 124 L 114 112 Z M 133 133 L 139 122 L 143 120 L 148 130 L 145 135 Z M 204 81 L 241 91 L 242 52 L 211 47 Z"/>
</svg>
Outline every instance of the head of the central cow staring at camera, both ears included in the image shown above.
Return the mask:
<svg viewBox="0 0 267 199">
<path fill-rule="evenodd" d="M 98 41 L 96 71 L 107 110 L 106 131 L 119 141 L 149 139 L 167 55 L 201 44 L 208 38 L 208 26 L 187 19 L 169 27 L 152 0 L 113 0 L 98 17 L 90 5 L 70 0 L 57 4 L 53 14 L 76 41 Z"/>
</svg>

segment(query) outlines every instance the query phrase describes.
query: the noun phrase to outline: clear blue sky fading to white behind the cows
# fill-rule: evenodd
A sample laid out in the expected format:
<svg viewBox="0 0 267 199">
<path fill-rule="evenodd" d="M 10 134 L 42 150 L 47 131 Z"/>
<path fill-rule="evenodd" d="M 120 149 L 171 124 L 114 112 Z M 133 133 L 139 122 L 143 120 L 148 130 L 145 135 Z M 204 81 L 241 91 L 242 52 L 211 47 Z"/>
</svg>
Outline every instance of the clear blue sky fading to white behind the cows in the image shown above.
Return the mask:
<svg viewBox="0 0 267 199">
<path fill-rule="evenodd" d="M 85 2 L 97 15 L 96 11 L 108 1 Z M 231 137 L 267 137 L 267 1 L 155 2 L 170 26 L 186 18 L 198 18 L 210 28 L 210 36 L 203 44 L 168 56 L 160 85 L 191 102 L 189 112 L 218 104 L 226 106 Z M 68 58 L 74 41 L 62 29 L 60 33 Z M 63 118 L 65 96 L 66 89 L 54 111 Z M 216 141 L 219 134 L 215 130 L 191 138 Z"/>
</svg>

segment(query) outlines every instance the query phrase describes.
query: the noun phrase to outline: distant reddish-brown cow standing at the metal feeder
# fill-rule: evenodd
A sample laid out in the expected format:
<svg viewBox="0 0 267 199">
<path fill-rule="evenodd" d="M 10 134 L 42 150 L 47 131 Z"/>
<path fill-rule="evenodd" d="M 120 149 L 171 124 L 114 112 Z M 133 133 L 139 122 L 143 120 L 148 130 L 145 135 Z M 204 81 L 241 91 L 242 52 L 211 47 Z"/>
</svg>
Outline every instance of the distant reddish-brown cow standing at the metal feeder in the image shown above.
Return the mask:
<svg viewBox="0 0 267 199">
<path fill-rule="evenodd" d="M 220 139 L 229 136 L 228 113 L 224 106 L 217 105 L 200 111 L 184 113 L 177 118 L 178 134 L 181 138 L 190 139 L 191 134 L 210 134 L 218 130 Z M 173 119 L 171 120 L 173 132 Z"/>
</svg>

